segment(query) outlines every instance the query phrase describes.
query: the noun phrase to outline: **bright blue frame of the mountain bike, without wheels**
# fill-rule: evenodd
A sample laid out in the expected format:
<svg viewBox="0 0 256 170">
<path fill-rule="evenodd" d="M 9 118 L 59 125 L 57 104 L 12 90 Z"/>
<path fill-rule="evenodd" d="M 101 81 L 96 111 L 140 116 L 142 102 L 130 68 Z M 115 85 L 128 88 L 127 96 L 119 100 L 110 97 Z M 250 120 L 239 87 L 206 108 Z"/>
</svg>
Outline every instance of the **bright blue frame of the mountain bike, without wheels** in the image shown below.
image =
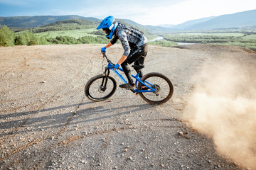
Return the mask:
<svg viewBox="0 0 256 170">
<path fill-rule="evenodd" d="M 124 79 L 124 77 L 122 77 L 122 74 L 120 74 L 117 70 L 114 70 L 114 64 L 112 64 L 111 62 L 110 62 L 110 60 L 107 60 L 107 62 L 108 62 L 108 65 L 107 65 L 107 67 L 106 67 L 106 69 L 108 69 L 108 70 L 112 70 L 115 74 L 117 74 L 117 76 L 125 83 L 125 84 L 127 84 L 127 81 Z M 121 68 L 119 68 L 119 71 L 121 71 L 121 72 L 124 72 L 124 70 L 123 69 L 121 69 Z M 149 81 L 141 81 L 141 78 L 139 77 L 139 74 L 137 74 L 136 76 L 134 76 L 133 74 L 132 74 L 132 77 L 134 77 L 134 79 L 136 79 L 136 81 L 135 81 L 135 89 L 134 90 L 132 90 L 132 91 L 134 91 L 134 92 L 137 92 L 137 93 L 142 93 L 142 92 L 155 92 L 156 91 L 156 89 L 153 89 L 152 88 L 152 86 L 154 86 L 154 84 L 151 84 L 151 83 L 149 83 Z M 144 86 L 146 86 L 146 90 L 138 90 L 137 89 L 137 84 L 138 84 L 138 81 L 141 83 L 141 84 L 143 84 Z"/>
</svg>

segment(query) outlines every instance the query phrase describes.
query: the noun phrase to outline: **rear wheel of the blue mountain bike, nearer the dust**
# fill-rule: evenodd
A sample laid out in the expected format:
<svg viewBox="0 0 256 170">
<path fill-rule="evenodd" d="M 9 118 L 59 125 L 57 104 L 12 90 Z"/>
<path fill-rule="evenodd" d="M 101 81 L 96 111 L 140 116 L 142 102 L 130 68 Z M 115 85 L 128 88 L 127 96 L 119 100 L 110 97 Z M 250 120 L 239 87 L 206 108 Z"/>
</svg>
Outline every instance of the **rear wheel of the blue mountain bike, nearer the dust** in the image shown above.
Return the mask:
<svg viewBox="0 0 256 170">
<path fill-rule="evenodd" d="M 151 86 L 154 89 L 154 92 L 141 92 L 139 96 L 148 103 L 151 104 L 161 104 L 169 101 L 171 96 L 174 93 L 174 86 L 171 84 L 171 81 L 160 73 L 149 73 L 144 75 L 141 79 L 146 85 Z M 150 90 L 147 89 L 144 84 L 138 84 L 139 90 Z"/>
</svg>

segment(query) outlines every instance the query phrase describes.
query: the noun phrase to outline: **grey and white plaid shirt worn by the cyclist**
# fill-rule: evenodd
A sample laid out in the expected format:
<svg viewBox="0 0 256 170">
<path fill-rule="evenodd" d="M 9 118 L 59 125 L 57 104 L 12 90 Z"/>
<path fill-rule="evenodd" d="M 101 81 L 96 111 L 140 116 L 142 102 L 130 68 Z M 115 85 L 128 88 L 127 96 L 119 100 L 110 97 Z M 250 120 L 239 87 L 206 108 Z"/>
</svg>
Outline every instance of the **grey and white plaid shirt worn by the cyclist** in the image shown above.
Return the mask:
<svg viewBox="0 0 256 170">
<path fill-rule="evenodd" d="M 131 26 L 125 26 L 118 24 L 117 29 L 114 33 L 114 38 L 110 41 L 114 45 L 117 40 L 122 42 L 124 48 L 124 55 L 128 56 L 132 48 L 138 48 L 149 40 L 146 38 L 142 31 L 137 30 Z"/>
</svg>

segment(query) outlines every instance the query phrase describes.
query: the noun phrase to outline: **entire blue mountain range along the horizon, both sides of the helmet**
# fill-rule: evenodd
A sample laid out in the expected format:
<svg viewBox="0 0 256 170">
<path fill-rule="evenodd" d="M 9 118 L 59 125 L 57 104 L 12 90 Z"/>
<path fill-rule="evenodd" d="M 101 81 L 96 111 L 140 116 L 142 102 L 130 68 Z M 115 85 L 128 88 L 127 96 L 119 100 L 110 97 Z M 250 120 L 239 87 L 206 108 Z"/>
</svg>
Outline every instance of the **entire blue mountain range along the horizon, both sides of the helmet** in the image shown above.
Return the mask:
<svg viewBox="0 0 256 170">
<path fill-rule="evenodd" d="M 17 17 L 0 17 L 0 26 L 8 26 L 13 28 L 35 28 L 46 26 L 58 21 L 67 21 L 82 19 L 100 23 L 101 20 L 92 17 L 82 16 L 17 16 Z M 131 26 L 142 28 L 149 33 L 169 33 L 182 30 L 210 30 L 218 28 L 244 28 L 248 26 L 256 26 L 256 10 L 244 11 L 222 16 L 212 16 L 197 20 L 186 21 L 176 26 L 143 26 L 127 19 L 117 19 L 117 21 L 128 23 Z"/>
</svg>

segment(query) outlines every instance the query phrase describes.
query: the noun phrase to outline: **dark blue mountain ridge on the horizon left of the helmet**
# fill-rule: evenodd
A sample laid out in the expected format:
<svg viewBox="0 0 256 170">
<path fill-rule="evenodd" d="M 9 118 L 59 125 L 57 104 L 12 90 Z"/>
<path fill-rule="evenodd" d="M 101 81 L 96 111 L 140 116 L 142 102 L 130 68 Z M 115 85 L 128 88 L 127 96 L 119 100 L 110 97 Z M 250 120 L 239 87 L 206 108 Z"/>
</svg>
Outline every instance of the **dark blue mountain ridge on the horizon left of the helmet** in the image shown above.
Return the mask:
<svg viewBox="0 0 256 170">
<path fill-rule="evenodd" d="M 34 28 L 45 26 L 63 20 L 85 19 L 89 21 L 100 21 L 97 18 L 82 16 L 14 16 L 0 17 L 0 26 Z"/>
</svg>

